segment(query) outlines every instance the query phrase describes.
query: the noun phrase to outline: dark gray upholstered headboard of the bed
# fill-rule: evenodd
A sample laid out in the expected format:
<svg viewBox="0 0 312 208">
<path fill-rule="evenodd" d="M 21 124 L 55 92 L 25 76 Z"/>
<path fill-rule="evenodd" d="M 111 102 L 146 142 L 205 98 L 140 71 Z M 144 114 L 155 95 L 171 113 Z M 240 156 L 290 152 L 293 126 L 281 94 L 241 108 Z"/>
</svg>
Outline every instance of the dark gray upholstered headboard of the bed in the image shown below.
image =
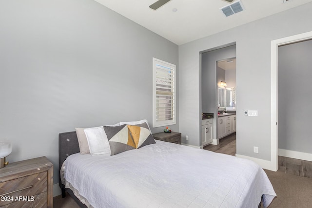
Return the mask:
<svg viewBox="0 0 312 208">
<path fill-rule="evenodd" d="M 79 151 L 80 150 L 76 132 L 59 133 L 59 170 L 69 155 L 78 153 Z M 59 187 L 63 187 L 60 177 Z"/>
</svg>

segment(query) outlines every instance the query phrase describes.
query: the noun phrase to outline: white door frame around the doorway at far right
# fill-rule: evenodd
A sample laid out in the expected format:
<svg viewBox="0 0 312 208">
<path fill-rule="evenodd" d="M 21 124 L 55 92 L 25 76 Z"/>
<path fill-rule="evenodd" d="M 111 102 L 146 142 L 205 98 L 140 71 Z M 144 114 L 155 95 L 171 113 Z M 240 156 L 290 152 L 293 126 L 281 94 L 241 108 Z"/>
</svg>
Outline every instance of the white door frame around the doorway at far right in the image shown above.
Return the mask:
<svg viewBox="0 0 312 208">
<path fill-rule="evenodd" d="M 312 39 L 312 31 L 271 41 L 271 170 L 278 169 L 278 46 Z"/>
</svg>

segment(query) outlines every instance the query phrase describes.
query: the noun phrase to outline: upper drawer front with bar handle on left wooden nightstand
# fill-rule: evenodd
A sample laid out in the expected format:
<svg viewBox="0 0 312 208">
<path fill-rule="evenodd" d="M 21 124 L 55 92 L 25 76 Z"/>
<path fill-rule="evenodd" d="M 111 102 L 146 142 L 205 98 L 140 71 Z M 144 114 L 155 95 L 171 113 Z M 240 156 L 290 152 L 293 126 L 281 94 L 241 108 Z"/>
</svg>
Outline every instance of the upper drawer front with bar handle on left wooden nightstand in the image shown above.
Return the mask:
<svg viewBox="0 0 312 208">
<path fill-rule="evenodd" d="M 0 183 L 0 206 L 16 203 L 20 196 L 30 197 L 47 191 L 47 172 L 17 178 Z M 16 198 L 18 197 L 18 198 Z M 25 200 L 20 200 L 25 204 Z M 28 201 L 28 200 L 26 200 Z M 46 201 L 46 199 L 45 199 Z"/>
</svg>

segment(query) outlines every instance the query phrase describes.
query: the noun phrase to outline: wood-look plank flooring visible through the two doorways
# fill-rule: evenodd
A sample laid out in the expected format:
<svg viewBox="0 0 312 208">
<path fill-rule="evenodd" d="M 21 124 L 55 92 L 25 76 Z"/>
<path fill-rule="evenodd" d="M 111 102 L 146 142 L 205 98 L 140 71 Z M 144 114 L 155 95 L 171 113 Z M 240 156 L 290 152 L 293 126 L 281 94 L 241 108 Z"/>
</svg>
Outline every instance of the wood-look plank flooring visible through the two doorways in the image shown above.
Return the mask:
<svg viewBox="0 0 312 208">
<path fill-rule="evenodd" d="M 236 153 L 236 133 L 232 133 L 219 140 L 218 145 L 207 145 L 204 150 L 235 156 Z M 289 157 L 278 156 L 278 170 L 301 177 L 312 178 L 312 162 L 298 160 Z"/>
</svg>

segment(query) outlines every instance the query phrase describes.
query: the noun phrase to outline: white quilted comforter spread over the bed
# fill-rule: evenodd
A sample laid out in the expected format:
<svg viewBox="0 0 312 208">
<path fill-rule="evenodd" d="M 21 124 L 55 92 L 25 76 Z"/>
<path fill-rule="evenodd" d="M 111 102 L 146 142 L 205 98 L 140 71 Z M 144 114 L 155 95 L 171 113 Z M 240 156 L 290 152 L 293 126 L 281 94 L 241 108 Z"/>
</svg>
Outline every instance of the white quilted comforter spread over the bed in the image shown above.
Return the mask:
<svg viewBox="0 0 312 208">
<path fill-rule="evenodd" d="M 70 155 L 64 178 L 95 208 L 257 208 L 276 196 L 265 172 L 234 156 L 156 140 L 114 156 Z"/>
</svg>

